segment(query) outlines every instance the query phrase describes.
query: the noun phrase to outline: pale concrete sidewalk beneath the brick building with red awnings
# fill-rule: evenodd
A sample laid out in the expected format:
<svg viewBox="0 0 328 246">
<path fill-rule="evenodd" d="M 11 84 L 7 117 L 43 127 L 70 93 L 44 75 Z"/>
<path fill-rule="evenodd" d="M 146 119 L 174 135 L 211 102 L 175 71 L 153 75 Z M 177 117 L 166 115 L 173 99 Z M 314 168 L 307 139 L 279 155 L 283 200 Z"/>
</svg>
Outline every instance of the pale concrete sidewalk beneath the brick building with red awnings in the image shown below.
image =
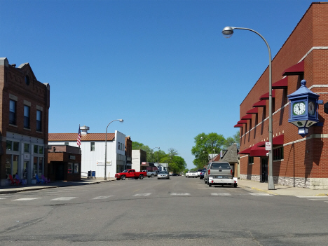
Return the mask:
<svg viewBox="0 0 328 246">
<path fill-rule="evenodd" d="M 238 179 L 238 187 L 280 196 L 328 196 L 328 190 L 311 190 L 278 184 L 275 184 L 274 190 L 268 190 L 268 183 L 260 183 L 247 179 Z"/>
</svg>

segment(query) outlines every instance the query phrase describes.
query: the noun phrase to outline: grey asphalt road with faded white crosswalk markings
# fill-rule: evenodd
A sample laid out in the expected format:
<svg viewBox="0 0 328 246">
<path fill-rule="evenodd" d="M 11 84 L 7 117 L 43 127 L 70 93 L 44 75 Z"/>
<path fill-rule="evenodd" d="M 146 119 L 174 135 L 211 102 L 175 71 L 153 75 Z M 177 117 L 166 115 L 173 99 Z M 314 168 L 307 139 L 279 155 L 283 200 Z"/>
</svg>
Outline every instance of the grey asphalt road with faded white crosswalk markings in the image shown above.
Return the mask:
<svg viewBox="0 0 328 246">
<path fill-rule="evenodd" d="M 0 245 L 328 245 L 328 198 L 127 179 L 0 195 Z"/>
</svg>

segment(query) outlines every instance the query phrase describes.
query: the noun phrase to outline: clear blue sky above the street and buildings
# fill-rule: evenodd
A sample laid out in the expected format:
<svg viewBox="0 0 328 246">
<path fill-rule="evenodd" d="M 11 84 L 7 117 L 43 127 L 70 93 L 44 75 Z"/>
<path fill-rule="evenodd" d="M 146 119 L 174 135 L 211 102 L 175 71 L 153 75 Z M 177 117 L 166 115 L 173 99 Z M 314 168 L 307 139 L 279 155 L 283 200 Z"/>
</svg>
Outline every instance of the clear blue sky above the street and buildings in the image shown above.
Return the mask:
<svg viewBox="0 0 328 246">
<path fill-rule="evenodd" d="M 50 84 L 49 132 L 118 130 L 194 168 L 200 132 L 232 137 L 239 106 L 312 1 L 0 1 L 0 57 Z M 273 81 L 274 82 L 274 81 Z M 155 149 L 156 150 L 156 149 Z"/>
</svg>

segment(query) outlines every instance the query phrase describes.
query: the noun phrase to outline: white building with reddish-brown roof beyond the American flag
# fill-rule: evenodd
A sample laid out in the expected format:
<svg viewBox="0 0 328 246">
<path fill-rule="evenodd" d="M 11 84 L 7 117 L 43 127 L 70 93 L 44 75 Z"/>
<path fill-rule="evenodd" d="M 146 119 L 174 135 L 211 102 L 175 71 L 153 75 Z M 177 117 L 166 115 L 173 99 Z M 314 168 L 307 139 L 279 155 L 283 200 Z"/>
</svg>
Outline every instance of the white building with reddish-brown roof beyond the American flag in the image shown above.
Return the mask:
<svg viewBox="0 0 328 246">
<path fill-rule="evenodd" d="M 81 173 L 95 171 L 95 177 L 104 177 L 105 133 L 88 133 L 88 126 L 81 126 Z M 78 133 L 49 133 L 48 145 L 77 145 Z M 107 173 L 114 177 L 125 170 L 125 135 L 122 132 L 107 133 Z"/>
</svg>

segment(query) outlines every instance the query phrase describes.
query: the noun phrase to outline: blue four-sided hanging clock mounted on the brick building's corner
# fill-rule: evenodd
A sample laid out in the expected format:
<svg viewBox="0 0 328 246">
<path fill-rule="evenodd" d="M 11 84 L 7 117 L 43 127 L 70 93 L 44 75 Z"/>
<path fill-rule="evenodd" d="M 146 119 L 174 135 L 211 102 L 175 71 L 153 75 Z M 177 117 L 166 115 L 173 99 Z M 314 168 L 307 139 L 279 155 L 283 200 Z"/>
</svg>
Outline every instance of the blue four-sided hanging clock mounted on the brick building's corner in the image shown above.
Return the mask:
<svg viewBox="0 0 328 246">
<path fill-rule="evenodd" d="M 301 81 L 301 87 L 294 93 L 287 95 L 289 99 L 288 122 L 299 128 L 302 137 L 308 134 L 308 128 L 319 121 L 317 113 L 319 95 L 306 87 L 306 80 Z"/>
</svg>

